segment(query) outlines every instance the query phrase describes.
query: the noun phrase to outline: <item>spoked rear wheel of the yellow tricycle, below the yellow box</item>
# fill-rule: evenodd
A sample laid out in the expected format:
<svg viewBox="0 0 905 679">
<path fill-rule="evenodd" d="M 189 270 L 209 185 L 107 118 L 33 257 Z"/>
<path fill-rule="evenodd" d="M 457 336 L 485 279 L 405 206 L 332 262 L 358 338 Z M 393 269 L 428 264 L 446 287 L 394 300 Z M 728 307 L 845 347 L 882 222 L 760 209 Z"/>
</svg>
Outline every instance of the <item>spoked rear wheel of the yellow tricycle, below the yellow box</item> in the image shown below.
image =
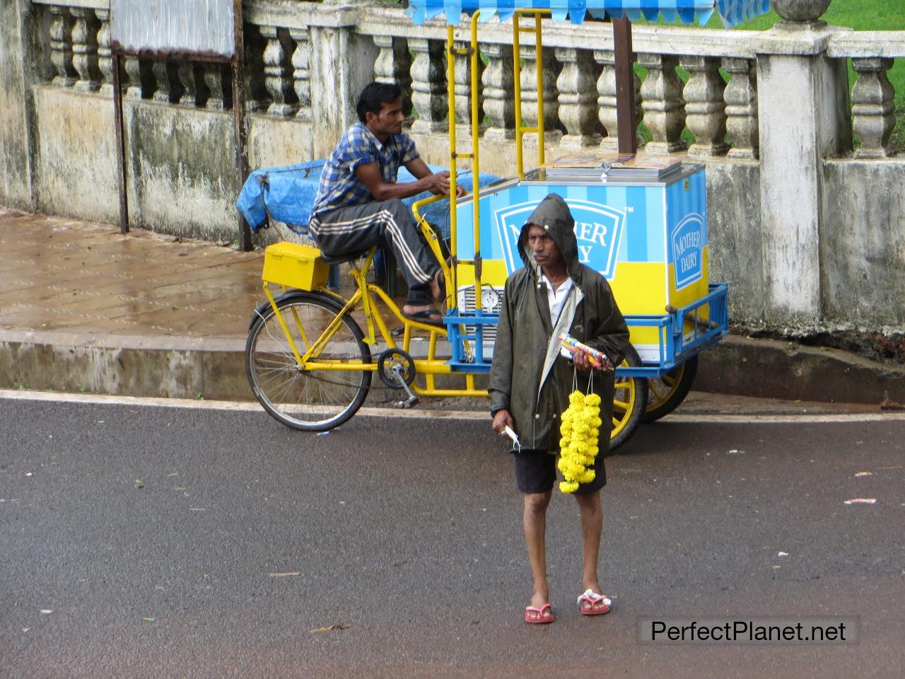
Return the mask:
<svg viewBox="0 0 905 679">
<path fill-rule="evenodd" d="M 309 342 L 316 342 L 342 311 L 337 302 L 307 292 L 282 296 L 277 308 L 300 353 L 309 349 Z M 342 316 L 323 349 L 309 362 L 337 360 L 371 362 L 364 335 L 348 314 Z M 286 426 L 312 432 L 346 422 L 356 414 L 371 387 L 369 370 L 300 368 L 269 305 L 257 312 L 248 331 L 245 371 L 254 397 L 268 413 Z"/>
</svg>

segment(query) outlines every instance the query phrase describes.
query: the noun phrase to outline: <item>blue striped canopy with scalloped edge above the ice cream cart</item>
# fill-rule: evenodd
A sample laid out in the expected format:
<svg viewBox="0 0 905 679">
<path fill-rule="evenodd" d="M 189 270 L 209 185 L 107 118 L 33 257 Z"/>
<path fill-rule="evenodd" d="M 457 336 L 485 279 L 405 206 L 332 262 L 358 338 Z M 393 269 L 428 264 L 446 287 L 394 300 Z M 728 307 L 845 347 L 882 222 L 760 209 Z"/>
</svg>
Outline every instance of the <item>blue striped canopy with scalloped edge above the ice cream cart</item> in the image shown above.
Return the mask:
<svg viewBox="0 0 905 679">
<path fill-rule="evenodd" d="M 626 14 L 631 21 L 641 17 L 656 21 L 662 16 L 669 22 L 679 19 L 691 24 L 697 19 L 700 24 L 706 24 L 716 10 L 723 24 L 734 26 L 766 14 L 770 0 L 409 0 L 408 13 L 415 24 L 423 24 L 443 13 L 448 23 L 458 24 L 462 12 L 471 15 L 480 9 L 481 21 L 492 16 L 504 21 L 523 8 L 549 9 L 554 21 L 569 18 L 573 24 L 581 24 L 586 12 L 596 18 L 603 18 L 604 14 L 619 18 Z"/>
</svg>

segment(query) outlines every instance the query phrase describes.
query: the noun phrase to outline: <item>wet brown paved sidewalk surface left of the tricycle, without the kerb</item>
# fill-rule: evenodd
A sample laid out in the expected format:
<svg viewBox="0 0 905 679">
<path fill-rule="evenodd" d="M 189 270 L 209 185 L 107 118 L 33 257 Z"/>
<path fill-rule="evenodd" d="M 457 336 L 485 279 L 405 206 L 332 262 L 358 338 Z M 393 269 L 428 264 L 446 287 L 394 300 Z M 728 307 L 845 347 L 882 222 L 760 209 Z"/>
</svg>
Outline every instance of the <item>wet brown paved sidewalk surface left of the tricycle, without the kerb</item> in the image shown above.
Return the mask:
<svg viewBox="0 0 905 679">
<path fill-rule="evenodd" d="M 263 253 L 0 209 L 0 329 L 244 337 Z"/>
</svg>

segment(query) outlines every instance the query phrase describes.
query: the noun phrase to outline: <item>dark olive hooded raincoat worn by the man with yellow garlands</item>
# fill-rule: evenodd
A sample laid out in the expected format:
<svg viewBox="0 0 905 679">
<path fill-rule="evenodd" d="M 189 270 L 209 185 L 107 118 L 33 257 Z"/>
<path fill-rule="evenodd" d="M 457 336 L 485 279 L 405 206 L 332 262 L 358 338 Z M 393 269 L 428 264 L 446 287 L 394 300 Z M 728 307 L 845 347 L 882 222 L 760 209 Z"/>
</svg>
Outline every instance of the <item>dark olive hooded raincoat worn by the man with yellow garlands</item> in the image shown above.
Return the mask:
<svg viewBox="0 0 905 679">
<path fill-rule="evenodd" d="M 574 282 L 559 319 L 550 318 L 547 286 L 540 266 L 529 251 L 529 225 L 543 226 L 556 242 Z M 614 374 L 577 371 L 559 353 L 559 334 L 568 332 L 619 365 L 629 350 L 628 327 L 600 273 L 579 263 L 575 220 L 566 201 L 550 194 L 528 218 L 519 236 L 519 254 L 525 266 L 506 280 L 491 367 L 491 414 L 509 410 L 522 448 L 556 453 L 559 417 L 568 407 L 568 395 L 577 388 L 600 395 L 599 454 L 606 453 L 613 423 Z M 598 465 L 598 474 L 603 465 Z"/>
</svg>

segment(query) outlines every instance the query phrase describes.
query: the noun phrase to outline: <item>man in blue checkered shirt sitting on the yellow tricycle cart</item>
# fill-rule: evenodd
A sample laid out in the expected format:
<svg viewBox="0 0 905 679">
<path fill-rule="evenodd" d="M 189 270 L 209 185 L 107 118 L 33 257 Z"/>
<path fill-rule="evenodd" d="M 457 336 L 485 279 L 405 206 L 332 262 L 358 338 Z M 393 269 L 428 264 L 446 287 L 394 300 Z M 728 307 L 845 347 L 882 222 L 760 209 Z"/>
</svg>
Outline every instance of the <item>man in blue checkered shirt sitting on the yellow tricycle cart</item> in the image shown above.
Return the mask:
<svg viewBox="0 0 905 679">
<path fill-rule="evenodd" d="M 432 299 L 445 297 L 443 273 L 402 198 L 424 191 L 448 196 L 449 172 L 431 172 L 402 131 L 402 91 L 395 83 L 367 85 L 358 97 L 357 113 L 360 122 L 339 139 L 320 173 L 310 233 L 329 256 L 374 245 L 392 248 L 408 284 L 403 315 L 442 324 Z M 396 183 L 400 165 L 417 181 Z"/>
</svg>

